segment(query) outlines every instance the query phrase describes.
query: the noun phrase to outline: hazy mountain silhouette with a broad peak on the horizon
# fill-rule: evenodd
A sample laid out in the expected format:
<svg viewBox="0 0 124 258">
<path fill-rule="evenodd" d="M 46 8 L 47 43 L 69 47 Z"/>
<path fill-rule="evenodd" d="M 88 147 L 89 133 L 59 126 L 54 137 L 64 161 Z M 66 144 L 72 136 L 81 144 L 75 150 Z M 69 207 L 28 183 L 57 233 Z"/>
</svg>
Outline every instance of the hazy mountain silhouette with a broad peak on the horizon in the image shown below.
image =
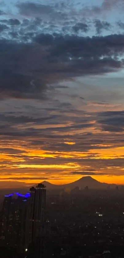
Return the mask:
<svg viewBox="0 0 124 258">
<path fill-rule="evenodd" d="M 76 186 L 80 187 L 81 189 L 84 189 L 86 186 L 88 186 L 89 189 L 107 189 L 109 186 L 109 184 L 101 183 L 90 176 L 82 177 L 79 180 L 66 185 L 54 185 L 47 181 L 43 181 L 42 184 L 46 185 L 47 189 L 62 189 L 62 188 L 74 189 Z M 115 188 L 115 185 L 113 184 L 110 185 L 110 188 Z"/>
</svg>

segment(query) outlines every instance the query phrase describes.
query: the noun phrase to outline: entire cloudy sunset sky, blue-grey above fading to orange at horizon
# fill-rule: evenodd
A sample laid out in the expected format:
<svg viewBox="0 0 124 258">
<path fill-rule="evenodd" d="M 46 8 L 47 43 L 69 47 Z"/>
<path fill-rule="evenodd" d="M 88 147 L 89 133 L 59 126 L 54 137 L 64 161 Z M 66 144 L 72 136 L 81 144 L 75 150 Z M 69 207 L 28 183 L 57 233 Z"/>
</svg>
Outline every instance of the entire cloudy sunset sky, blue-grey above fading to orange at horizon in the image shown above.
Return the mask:
<svg viewBox="0 0 124 258">
<path fill-rule="evenodd" d="M 124 184 L 124 1 L 0 2 L 0 187 Z"/>
</svg>

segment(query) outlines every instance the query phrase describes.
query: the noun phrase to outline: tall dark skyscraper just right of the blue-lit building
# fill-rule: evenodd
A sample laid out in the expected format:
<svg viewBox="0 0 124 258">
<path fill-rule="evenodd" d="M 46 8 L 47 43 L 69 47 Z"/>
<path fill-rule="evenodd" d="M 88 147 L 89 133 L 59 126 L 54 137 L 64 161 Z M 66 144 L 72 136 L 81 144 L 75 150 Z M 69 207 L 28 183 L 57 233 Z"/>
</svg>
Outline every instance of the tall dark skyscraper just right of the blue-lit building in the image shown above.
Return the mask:
<svg viewBox="0 0 124 258">
<path fill-rule="evenodd" d="M 26 249 L 35 252 L 35 257 L 42 257 L 44 249 L 44 213 L 46 205 L 46 189 L 43 184 L 30 188 L 26 216 Z M 33 248 L 32 248 L 33 246 Z M 31 255 L 29 254 L 29 257 Z"/>
</svg>

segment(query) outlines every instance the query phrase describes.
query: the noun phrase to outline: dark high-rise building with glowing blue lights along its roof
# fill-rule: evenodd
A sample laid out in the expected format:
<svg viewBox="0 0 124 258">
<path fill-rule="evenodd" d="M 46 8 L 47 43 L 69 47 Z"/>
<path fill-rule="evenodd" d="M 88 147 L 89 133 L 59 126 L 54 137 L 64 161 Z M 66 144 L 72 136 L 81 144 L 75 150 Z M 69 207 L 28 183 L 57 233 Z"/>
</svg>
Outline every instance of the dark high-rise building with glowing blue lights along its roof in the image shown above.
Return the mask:
<svg viewBox="0 0 124 258">
<path fill-rule="evenodd" d="M 22 251 L 25 245 L 26 202 L 29 193 L 5 195 L 0 217 L 0 245 Z"/>
</svg>

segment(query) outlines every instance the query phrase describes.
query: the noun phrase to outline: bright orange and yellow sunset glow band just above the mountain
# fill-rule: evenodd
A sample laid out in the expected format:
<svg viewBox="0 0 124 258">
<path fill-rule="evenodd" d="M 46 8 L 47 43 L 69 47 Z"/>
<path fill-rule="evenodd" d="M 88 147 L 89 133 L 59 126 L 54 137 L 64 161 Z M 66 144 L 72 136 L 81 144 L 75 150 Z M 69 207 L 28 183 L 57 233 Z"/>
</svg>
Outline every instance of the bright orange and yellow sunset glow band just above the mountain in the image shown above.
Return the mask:
<svg viewBox="0 0 124 258">
<path fill-rule="evenodd" d="M 0 161 L 2 161 L 0 164 L 0 171 L 2 172 L 0 181 L 35 184 L 46 180 L 52 184 L 62 185 L 90 175 L 100 182 L 124 184 L 124 166 L 118 164 L 114 166 L 112 161 L 116 158 L 123 159 L 124 147 L 113 147 L 110 144 L 92 144 L 91 149 L 83 152 L 72 149 L 75 144 L 74 141 L 67 140 L 64 143 L 70 145 L 70 150 L 49 151 L 36 149 L 35 147 L 34 149 L 24 148 L 19 147 L 17 142 L 18 146 L 15 145 L 13 148 L 15 153 L 16 149 L 20 150 L 18 155 L 9 153 L 9 148 L 8 153 L 1 153 L 0 155 Z M 95 149 L 95 146 L 98 148 Z M 47 163 L 48 159 L 49 163 Z M 71 162 L 68 162 L 68 160 Z M 86 160 L 88 160 L 88 163 Z M 105 160 L 109 160 L 110 165 L 106 165 Z M 94 161 L 95 165 L 92 170 L 92 162 Z M 104 161 L 104 165 L 101 161 Z M 85 171 L 89 172 L 85 174 Z"/>
</svg>

